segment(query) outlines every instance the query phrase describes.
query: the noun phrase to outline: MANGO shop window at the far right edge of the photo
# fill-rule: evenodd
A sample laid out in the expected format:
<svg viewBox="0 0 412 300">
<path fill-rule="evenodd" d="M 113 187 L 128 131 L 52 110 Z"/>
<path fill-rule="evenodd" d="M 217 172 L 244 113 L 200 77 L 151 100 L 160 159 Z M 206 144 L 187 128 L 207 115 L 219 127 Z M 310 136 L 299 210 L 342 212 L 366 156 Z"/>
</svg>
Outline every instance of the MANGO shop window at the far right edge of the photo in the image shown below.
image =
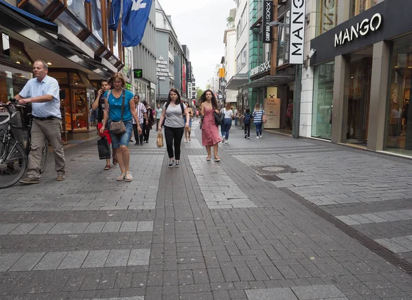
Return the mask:
<svg viewBox="0 0 412 300">
<path fill-rule="evenodd" d="M 385 150 L 412 155 L 412 35 L 393 41 Z"/>
</svg>

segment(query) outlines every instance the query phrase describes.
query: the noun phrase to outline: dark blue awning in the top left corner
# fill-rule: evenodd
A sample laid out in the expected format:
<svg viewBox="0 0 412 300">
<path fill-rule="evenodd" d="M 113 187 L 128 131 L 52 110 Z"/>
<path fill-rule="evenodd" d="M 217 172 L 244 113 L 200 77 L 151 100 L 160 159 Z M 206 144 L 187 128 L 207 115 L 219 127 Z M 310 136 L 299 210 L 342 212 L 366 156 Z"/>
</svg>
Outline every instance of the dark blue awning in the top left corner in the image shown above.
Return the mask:
<svg viewBox="0 0 412 300">
<path fill-rule="evenodd" d="M 58 29 L 56 24 L 0 0 L 0 25 L 10 26 L 13 24 L 15 26 L 16 20 L 34 29 L 42 29 L 47 32 L 57 32 Z"/>
</svg>

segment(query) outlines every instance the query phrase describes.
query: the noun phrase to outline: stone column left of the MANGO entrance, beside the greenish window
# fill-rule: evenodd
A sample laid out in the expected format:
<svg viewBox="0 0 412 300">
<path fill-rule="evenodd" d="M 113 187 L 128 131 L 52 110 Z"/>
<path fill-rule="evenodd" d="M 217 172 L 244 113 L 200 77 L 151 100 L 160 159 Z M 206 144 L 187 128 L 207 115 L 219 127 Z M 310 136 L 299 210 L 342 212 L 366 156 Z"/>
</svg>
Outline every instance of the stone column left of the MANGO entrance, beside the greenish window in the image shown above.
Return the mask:
<svg viewBox="0 0 412 300">
<path fill-rule="evenodd" d="M 345 97 L 345 78 L 349 71 L 345 56 L 336 56 L 334 60 L 332 143 L 346 141 L 347 97 Z"/>
</svg>

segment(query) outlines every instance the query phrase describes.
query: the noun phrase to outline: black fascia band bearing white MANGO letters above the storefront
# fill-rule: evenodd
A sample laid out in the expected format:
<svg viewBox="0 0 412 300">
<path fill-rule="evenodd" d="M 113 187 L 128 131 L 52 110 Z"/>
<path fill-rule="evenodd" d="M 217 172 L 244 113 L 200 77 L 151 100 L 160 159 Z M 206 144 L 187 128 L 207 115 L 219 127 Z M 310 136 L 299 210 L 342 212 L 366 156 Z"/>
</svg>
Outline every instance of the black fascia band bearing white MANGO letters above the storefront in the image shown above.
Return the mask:
<svg viewBox="0 0 412 300">
<path fill-rule="evenodd" d="M 310 41 L 310 65 L 412 32 L 412 1 L 385 0 Z"/>
</svg>

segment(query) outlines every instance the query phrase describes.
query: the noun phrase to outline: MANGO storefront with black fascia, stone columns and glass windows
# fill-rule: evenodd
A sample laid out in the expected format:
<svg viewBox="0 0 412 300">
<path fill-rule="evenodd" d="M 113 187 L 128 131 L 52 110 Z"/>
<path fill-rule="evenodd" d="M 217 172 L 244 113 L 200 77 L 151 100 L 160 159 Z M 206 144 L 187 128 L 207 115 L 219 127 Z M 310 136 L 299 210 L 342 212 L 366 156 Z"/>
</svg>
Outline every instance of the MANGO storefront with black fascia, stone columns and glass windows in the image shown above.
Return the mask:
<svg viewBox="0 0 412 300">
<path fill-rule="evenodd" d="M 312 137 L 411 156 L 412 3 L 369 2 L 310 42 Z"/>
</svg>

